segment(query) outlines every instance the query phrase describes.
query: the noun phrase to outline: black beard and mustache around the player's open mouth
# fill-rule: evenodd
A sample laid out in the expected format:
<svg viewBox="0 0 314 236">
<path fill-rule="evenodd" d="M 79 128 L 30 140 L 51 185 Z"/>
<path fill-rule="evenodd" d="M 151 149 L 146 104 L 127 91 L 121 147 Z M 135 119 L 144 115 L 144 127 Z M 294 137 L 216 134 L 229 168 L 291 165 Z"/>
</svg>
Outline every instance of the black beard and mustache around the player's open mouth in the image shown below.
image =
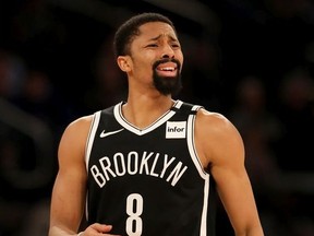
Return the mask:
<svg viewBox="0 0 314 236">
<path fill-rule="evenodd" d="M 160 76 L 156 70 L 156 68 L 160 64 L 160 63 L 165 63 L 165 62 L 174 62 L 177 63 L 177 75 L 176 76 Z M 182 80 L 181 80 L 181 73 L 180 73 L 180 68 L 181 68 L 181 63 L 180 61 L 176 60 L 176 59 L 162 59 L 159 61 L 156 61 L 153 66 L 153 82 L 155 87 L 157 88 L 157 91 L 159 91 L 159 93 L 161 93 L 162 95 L 177 95 L 180 90 L 182 88 Z"/>
</svg>

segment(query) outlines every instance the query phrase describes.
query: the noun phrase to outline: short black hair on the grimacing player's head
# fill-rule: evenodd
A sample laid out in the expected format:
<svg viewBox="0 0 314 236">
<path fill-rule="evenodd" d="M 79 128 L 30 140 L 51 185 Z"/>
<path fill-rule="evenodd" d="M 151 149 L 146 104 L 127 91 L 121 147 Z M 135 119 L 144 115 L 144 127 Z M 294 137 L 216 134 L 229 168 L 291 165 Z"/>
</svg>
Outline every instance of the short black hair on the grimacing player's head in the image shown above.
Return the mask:
<svg viewBox="0 0 314 236">
<path fill-rule="evenodd" d="M 154 12 L 144 12 L 132 16 L 126 22 L 124 22 L 116 32 L 113 38 L 113 52 L 116 58 L 118 56 L 130 55 L 130 45 L 134 37 L 140 34 L 140 26 L 149 22 L 164 22 L 169 24 L 174 33 L 177 34 L 176 27 L 172 21 L 160 14 Z"/>
</svg>

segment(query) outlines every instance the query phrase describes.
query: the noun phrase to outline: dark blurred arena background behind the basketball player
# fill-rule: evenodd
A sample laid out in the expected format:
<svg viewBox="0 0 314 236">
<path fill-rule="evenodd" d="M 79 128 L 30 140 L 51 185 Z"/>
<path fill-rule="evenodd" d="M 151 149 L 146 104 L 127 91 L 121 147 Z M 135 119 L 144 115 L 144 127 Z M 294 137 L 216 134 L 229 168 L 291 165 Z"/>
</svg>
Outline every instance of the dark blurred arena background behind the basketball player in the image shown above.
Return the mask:
<svg viewBox="0 0 314 236">
<path fill-rule="evenodd" d="M 177 26 L 178 98 L 222 113 L 241 132 L 265 235 L 313 236 L 310 0 L 1 0 L 0 236 L 47 235 L 63 129 L 124 99 L 112 34 L 143 11 Z M 217 224 L 217 235 L 232 235 L 221 205 Z"/>
</svg>

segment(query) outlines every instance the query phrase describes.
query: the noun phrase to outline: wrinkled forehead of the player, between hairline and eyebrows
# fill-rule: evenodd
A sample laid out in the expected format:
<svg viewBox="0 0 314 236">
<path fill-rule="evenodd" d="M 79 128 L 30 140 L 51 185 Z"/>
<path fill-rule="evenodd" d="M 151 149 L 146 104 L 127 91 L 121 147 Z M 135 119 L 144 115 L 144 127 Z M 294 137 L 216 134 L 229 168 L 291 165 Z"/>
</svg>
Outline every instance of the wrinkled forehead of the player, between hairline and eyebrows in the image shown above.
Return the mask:
<svg viewBox="0 0 314 236">
<path fill-rule="evenodd" d="M 157 37 L 171 37 L 177 39 L 174 30 L 167 23 L 164 22 L 149 22 L 140 26 L 140 37 L 146 39 Z"/>
</svg>

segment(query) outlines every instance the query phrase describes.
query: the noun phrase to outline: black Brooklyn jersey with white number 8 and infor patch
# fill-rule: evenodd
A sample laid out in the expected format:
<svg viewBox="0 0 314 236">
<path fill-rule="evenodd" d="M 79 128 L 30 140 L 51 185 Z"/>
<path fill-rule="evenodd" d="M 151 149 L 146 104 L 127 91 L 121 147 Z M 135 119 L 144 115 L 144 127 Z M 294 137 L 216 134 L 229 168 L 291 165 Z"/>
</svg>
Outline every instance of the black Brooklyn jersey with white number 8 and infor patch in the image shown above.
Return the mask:
<svg viewBox="0 0 314 236">
<path fill-rule="evenodd" d="M 123 103 L 94 114 L 86 143 L 88 224 L 111 234 L 208 236 L 209 174 L 194 145 L 201 106 L 177 101 L 145 129 L 122 116 Z"/>
</svg>

